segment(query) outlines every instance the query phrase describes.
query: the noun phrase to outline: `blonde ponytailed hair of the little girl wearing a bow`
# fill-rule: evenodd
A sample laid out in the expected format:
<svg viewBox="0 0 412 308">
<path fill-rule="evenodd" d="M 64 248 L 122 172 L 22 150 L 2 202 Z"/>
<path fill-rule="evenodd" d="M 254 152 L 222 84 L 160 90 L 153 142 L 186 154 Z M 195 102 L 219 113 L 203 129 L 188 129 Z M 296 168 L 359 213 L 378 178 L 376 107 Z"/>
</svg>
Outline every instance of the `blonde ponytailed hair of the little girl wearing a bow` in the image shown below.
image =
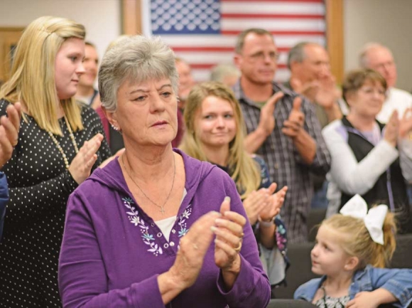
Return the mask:
<svg viewBox="0 0 412 308">
<path fill-rule="evenodd" d="M 358 257 L 358 268 L 370 264 L 374 267 L 386 267 L 394 255 L 396 248 L 396 221 L 394 213 L 387 213 L 384 221 L 384 245 L 375 243 L 362 218 L 335 214 L 327 218 L 321 225 L 332 228 L 340 236 L 340 244 L 345 252 Z"/>
</svg>

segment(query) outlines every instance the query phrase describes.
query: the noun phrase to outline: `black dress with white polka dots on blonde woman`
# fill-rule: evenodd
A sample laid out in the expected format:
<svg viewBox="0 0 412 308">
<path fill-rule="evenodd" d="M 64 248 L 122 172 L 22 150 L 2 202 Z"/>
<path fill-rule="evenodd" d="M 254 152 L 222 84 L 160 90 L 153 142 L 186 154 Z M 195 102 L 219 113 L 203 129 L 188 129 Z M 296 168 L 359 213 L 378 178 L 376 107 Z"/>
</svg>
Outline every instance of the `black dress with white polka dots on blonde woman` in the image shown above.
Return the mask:
<svg viewBox="0 0 412 308">
<path fill-rule="evenodd" d="M 0 115 L 7 102 L 0 101 Z M 63 237 L 67 198 L 77 187 L 65 169 L 62 154 L 48 132 L 32 117 L 21 120 L 18 145 L 2 171 L 9 182 L 10 201 L 0 243 L 0 307 L 61 307 L 58 294 L 58 257 Z M 83 107 L 77 145 L 103 133 L 99 116 Z M 69 161 L 75 148 L 64 118 L 63 137 L 56 137 Z M 94 169 L 110 156 L 106 142 L 97 152 Z"/>
</svg>

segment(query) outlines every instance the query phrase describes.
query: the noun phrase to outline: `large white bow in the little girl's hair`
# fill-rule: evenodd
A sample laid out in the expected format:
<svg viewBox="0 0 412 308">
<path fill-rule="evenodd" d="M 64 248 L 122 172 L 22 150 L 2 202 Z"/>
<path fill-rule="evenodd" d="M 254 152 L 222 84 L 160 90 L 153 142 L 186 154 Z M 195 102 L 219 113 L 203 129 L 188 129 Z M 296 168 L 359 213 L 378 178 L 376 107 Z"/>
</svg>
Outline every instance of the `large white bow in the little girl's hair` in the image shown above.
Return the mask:
<svg viewBox="0 0 412 308">
<path fill-rule="evenodd" d="M 368 205 L 364 198 L 359 195 L 354 195 L 345 206 L 340 209 L 340 213 L 345 216 L 352 216 L 362 218 L 375 243 L 384 245 L 384 225 L 386 213 L 388 213 L 388 206 L 379 204 L 371 208 L 368 212 Z"/>
</svg>

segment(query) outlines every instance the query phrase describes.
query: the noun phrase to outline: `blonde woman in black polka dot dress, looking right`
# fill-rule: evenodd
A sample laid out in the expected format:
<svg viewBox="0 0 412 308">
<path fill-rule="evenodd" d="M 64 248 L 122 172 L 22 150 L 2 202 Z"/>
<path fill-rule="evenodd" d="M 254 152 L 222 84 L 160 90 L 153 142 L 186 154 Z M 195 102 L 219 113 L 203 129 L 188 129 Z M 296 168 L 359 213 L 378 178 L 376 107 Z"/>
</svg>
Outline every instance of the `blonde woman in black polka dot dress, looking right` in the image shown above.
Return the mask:
<svg viewBox="0 0 412 308">
<path fill-rule="evenodd" d="M 85 72 L 85 28 L 40 17 L 24 31 L 0 115 L 21 102 L 18 144 L 3 170 L 9 181 L 0 244 L 0 307 L 61 307 L 58 257 L 67 198 L 110 152 L 102 124 L 72 98 Z"/>
</svg>

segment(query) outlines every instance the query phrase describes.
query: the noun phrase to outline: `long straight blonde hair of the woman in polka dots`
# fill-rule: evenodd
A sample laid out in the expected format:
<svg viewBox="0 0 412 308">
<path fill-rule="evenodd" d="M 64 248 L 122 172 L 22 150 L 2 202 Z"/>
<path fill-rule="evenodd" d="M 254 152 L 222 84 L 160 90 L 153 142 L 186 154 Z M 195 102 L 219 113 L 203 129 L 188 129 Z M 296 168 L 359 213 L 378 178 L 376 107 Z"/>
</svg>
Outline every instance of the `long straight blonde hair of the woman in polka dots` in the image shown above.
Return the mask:
<svg viewBox="0 0 412 308">
<path fill-rule="evenodd" d="M 43 16 L 23 31 L 14 53 L 11 78 L 0 89 L 0 98 L 23 101 L 41 129 L 63 135 L 58 122 L 55 58 L 67 38 L 85 39 L 85 27 L 67 18 Z M 73 131 L 83 129 L 80 106 L 73 97 L 60 100 Z M 27 120 L 27 119 L 26 119 Z"/>
</svg>

